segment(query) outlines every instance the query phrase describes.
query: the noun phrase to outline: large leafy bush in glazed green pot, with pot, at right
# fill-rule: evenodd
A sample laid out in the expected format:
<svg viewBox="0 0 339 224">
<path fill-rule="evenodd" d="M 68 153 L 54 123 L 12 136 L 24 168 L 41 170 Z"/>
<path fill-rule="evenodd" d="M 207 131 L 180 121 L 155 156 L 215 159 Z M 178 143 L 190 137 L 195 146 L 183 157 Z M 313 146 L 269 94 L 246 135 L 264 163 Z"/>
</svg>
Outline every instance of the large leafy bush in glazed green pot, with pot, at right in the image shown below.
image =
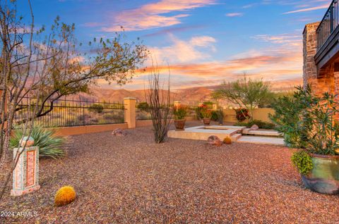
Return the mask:
<svg viewBox="0 0 339 224">
<path fill-rule="evenodd" d="M 290 147 L 299 148 L 292 163 L 304 186 L 322 194 L 339 194 L 339 115 L 337 96 L 314 96 L 298 87 L 292 98 L 279 99 L 271 116 Z M 279 105 L 280 104 L 280 105 Z"/>
</svg>

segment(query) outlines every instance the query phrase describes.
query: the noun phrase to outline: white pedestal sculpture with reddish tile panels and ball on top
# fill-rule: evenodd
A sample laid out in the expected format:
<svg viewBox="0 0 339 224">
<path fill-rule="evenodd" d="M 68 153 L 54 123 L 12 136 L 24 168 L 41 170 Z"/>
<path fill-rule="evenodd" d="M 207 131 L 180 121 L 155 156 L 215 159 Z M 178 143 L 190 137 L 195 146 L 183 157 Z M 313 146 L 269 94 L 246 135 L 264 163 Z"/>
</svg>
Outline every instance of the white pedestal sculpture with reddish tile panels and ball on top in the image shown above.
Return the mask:
<svg viewBox="0 0 339 224">
<path fill-rule="evenodd" d="M 25 149 L 23 147 L 25 146 Z M 16 169 L 13 171 L 12 196 L 28 194 L 37 189 L 39 185 L 39 147 L 32 147 L 34 139 L 23 137 L 21 147 L 13 150 L 13 158 L 20 154 Z"/>
</svg>

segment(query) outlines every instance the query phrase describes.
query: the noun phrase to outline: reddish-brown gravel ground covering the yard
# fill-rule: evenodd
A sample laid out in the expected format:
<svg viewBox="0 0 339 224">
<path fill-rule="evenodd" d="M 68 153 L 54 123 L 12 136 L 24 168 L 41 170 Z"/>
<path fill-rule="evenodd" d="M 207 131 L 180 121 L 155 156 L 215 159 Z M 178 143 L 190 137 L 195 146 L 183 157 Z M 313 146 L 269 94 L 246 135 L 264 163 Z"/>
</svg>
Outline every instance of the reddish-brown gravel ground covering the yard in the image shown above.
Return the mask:
<svg viewBox="0 0 339 224">
<path fill-rule="evenodd" d="M 183 139 L 154 144 L 150 127 L 128 132 L 126 137 L 111 132 L 71 137 L 69 156 L 40 160 L 38 192 L 14 198 L 8 187 L 0 202 L 0 212 L 37 216 L 0 221 L 339 223 L 339 197 L 304 189 L 286 147 L 213 147 Z M 63 185 L 72 185 L 77 199 L 54 207 L 54 194 Z"/>
</svg>

